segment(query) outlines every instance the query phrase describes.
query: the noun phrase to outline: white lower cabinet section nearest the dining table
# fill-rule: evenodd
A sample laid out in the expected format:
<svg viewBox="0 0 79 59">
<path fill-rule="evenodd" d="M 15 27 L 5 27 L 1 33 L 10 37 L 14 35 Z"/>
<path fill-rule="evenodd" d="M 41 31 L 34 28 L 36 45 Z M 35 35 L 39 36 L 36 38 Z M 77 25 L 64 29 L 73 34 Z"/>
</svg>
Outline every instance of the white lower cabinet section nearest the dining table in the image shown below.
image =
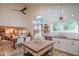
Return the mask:
<svg viewBox="0 0 79 59">
<path fill-rule="evenodd" d="M 60 38 L 53 38 L 54 48 L 62 51 L 67 51 L 67 40 Z"/>
</svg>

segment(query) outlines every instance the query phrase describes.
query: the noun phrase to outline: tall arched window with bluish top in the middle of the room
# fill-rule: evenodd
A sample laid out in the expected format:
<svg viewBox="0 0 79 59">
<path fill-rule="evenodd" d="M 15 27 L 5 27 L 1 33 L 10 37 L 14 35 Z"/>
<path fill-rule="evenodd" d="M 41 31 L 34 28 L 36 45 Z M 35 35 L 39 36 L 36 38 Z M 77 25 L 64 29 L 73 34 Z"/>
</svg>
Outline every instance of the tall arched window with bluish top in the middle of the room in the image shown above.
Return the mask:
<svg viewBox="0 0 79 59">
<path fill-rule="evenodd" d="M 34 17 L 32 23 L 33 23 L 33 35 L 42 31 L 42 24 L 43 24 L 43 17 L 42 16 Z"/>
</svg>

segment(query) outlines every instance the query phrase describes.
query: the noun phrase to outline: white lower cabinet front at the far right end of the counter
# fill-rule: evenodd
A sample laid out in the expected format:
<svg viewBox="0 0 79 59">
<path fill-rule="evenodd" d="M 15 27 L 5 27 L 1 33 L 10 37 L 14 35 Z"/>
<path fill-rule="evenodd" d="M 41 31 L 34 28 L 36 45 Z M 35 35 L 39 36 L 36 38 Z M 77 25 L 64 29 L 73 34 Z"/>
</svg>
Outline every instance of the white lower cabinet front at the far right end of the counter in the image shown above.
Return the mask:
<svg viewBox="0 0 79 59">
<path fill-rule="evenodd" d="M 74 55 L 78 55 L 79 42 L 76 40 L 68 40 L 68 52 Z"/>
</svg>

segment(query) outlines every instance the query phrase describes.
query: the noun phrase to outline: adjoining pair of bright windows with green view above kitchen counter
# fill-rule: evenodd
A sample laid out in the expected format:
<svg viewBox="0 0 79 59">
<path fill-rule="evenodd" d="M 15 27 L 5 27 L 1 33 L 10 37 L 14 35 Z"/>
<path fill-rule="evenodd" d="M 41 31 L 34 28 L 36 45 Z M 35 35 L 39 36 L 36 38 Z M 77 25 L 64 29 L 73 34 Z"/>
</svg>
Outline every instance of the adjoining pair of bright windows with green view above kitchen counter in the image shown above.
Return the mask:
<svg viewBox="0 0 79 59">
<path fill-rule="evenodd" d="M 63 22 L 62 24 L 59 22 L 56 22 L 50 26 L 51 31 L 55 32 L 61 32 L 62 30 L 64 32 L 78 32 L 78 23 L 75 20 L 67 20 Z"/>
</svg>

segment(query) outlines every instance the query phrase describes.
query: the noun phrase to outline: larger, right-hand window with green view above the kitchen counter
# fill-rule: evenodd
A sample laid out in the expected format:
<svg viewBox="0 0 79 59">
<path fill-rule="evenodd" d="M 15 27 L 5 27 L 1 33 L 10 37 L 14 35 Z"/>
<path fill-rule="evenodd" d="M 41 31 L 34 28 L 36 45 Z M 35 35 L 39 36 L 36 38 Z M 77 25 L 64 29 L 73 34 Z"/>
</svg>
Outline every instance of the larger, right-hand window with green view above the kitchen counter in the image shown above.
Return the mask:
<svg viewBox="0 0 79 59">
<path fill-rule="evenodd" d="M 66 32 L 78 32 L 78 24 L 74 20 L 64 22 L 64 31 Z"/>
</svg>

